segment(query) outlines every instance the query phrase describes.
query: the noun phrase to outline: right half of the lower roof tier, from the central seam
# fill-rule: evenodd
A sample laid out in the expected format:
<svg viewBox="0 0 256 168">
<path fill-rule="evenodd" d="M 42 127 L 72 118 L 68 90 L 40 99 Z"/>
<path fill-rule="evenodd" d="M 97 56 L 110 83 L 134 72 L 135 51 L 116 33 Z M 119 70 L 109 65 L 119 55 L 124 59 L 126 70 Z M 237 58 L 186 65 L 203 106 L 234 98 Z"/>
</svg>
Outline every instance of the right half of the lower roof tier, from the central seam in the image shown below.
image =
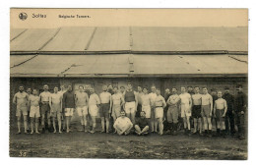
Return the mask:
<svg viewBox="0 0 256 168">
<path fill-rule="evenodd" d="M 236 56 L 239 57 L 239 56 Z M 247 74 L 248 65 L 227 55 L 135 55 L 135 74 Z"/>
</svg>

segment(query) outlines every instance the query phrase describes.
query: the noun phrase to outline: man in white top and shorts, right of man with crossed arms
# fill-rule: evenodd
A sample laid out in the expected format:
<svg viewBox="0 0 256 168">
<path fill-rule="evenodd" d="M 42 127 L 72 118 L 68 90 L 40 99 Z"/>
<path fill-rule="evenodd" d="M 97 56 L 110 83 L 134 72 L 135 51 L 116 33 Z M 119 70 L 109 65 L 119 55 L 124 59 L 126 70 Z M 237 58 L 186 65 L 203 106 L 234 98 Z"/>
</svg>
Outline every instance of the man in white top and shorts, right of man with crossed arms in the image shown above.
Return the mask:
<svg viewBox="0 0 256 168">
<path fill-rule="evenodd" d="M 185 134 L 191 135 L 190 131 L 190 117 L 191 117 L 191 106 L 192 100 L 191 95 L 186 92 L 186 87 L 180 87 L 181 94 L 179 95 L 180 98 L 180 110 L 181 110 L 181 118 L 183 119 Z M 186 129 L 187 128 L 187 129 Z"/>
</svg>

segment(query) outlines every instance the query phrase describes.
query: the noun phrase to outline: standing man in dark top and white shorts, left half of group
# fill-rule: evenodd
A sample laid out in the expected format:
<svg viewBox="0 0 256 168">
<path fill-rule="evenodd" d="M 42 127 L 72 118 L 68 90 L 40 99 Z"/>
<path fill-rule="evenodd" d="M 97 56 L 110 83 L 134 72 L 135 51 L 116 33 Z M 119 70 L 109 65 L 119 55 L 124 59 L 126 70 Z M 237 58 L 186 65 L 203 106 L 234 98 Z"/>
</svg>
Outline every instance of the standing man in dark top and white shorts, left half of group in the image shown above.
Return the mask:
<svg viewBox="0 0 256 168">
<path fill-rule="evenodd" d="M 67 133 L 70 132 L 70 121 L 75 109 L 75 94 L 72 85 L 68 85 L 68 90 L 63 94 L 62 106 L 65 109 Z"/>
</svg>

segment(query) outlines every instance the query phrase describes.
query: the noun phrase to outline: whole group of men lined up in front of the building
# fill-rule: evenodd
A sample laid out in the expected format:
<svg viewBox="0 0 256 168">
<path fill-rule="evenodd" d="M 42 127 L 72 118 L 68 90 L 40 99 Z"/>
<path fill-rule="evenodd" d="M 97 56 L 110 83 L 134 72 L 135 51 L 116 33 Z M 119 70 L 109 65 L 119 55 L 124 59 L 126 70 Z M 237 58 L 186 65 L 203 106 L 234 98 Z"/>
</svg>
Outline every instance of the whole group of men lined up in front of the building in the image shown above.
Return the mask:
<svg viewBox="0 0 256 168">
<path fill-rule="evenodd" d="M 238 128 L 239 139 L 244 139 L 244 113 L 247 106 L 247 96 L 242 92 L 242 85 L 237 85 L 235 96 L 229 93 L 229 88 L 225 87 L 224 95 L 222 91 L 212 90 L 212 95 L 208 93 L 206 87 L 185 86 L 180 87 L 181 93 L 177 94 L 177 88 L 165 89 L 164 97 L 160 95 L 160 88 L 151 87 L 149 93 L 147 87 L 138 86 L 137 91 L 133 90 L 132 84 L 112 87 L 112 85 L 102 85 L 102 92 L 97 95 L 95 88 L 86 85 L 79 86 L 78 91 L 72 90 L 72 85 L 68 85 L 65 91 L 64 85 L 59 90 L 54 87 L 53 93 L 48 91 L 48 85 L 43 85 L 43 91 L 37 95 L 38 90 L 33 88 L 24 90 L 24 86 L 19 87 L 13 98 L 13 103 L 17 105 L 16 116 L 18 118 L 18 133 L 21 134 L 21 116 L 24 117 L 25 133 L 28 133 L 28 115 L 31 118 L 31 134 L 39 134 L 39 120 L 41 122 L 42 133 L 45 132 L 45 120 L 48 128 L 52 127 L 53 132 L 57 132 L 56 118 L 58 122 L 58 132 L 65 130 L 69 133 L 71 118 L 76 111 L 81 119 L 83 129 L 80 131 L 96 133 L 96 117 L 101 119 L 101 133 L 109 133 L 112 128 L 118 135 L 128 135 L 134 128 L 137 135 L 147 135 L 151 133 L 166 133 L 177 135 L 180 119 L 183 120 L 185 134 L 200 134 L 212 137 L 212 124 L 215 124 L 218 135 L 225 135 L 229 132 L 235 134 L 234 116 Z M 32 93 L 31 93 L 32 92 Z M 112 120 L 113 121 L 112 121 Z M 192 119 L 192 120 L 191 120 Z M 63 122 L 62 122 L 63 121 Z M 163 128 L 163 123 L 164 127 Z M 191 124 L 194 126 L 191 132 Z M 63 130 L 61 129 L 63 128 Z"/>
</svg>

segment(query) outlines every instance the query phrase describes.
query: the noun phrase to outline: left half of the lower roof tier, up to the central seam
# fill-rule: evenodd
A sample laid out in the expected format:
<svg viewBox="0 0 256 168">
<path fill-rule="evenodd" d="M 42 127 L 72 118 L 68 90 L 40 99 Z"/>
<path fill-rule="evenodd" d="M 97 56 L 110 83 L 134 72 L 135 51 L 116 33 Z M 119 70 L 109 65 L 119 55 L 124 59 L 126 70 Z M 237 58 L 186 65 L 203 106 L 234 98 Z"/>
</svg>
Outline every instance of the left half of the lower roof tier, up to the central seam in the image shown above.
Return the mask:
<svg viewBox="0 0 256 168">
<path fill-rule="evenodd" d="M 19 57 L 12 56 L 11 60 Z M 128 57 L 129 55 L 38 55 L 29 62 L 11 68 L 11 76 L 127 75 Z"/>
</svg>

